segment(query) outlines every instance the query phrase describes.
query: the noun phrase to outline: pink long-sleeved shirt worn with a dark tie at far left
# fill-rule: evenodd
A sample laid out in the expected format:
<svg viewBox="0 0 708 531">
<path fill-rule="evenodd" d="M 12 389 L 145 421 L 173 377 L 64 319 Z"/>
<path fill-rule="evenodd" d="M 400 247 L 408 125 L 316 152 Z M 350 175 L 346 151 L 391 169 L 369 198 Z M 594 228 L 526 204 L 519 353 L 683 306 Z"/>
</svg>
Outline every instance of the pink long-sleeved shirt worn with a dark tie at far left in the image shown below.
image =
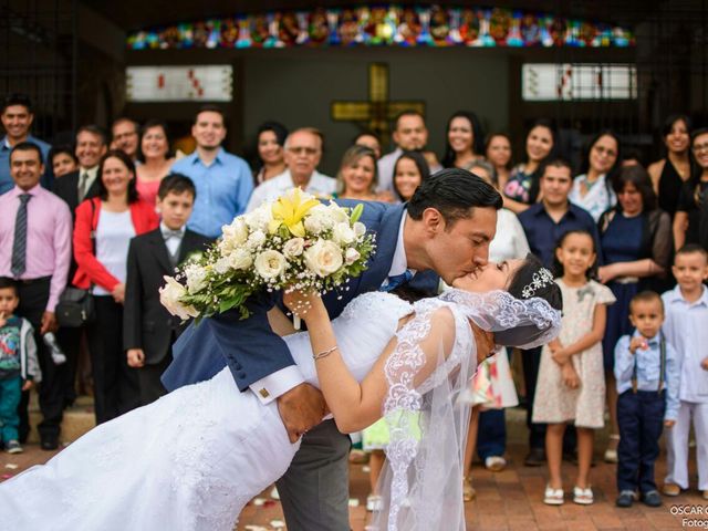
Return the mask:
<svg viewBox="0 0 708 531">
<path fill-rule="evenodd" d="M 15 186 L 0 196 L 0 277 L 12 278 L 12 243 L 14 220 L 20 207 Z M 66 287 L 71 259 L 71 211 L 66 204 L 51 191 L 35 186 L 28 191 L 32 196 L 27 204 L 27 269 L 21 280 L 51 277 L 46 311 L 53 312 L 59 295 Z"/>
</svg>

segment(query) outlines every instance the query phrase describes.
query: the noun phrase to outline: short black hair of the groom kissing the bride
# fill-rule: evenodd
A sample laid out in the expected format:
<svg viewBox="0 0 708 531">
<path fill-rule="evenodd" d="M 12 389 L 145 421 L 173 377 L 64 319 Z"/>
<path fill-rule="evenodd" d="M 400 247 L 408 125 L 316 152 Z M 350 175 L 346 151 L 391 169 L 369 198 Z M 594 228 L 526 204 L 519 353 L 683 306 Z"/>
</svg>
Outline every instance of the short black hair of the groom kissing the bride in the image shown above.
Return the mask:
<svg viewBox="0 0 708 531">
<path fill-rule="evenodd" d="M 420 183 L 408 201 L 408 216 L 421 219 L 427 208 L 435 208 L 451 226 L 468 218 L 470 208 L 491 207 L 499 210 L 503 201 L 499 192 L 481 177 L 460 168 L 442 169 Z"/>
</svg>

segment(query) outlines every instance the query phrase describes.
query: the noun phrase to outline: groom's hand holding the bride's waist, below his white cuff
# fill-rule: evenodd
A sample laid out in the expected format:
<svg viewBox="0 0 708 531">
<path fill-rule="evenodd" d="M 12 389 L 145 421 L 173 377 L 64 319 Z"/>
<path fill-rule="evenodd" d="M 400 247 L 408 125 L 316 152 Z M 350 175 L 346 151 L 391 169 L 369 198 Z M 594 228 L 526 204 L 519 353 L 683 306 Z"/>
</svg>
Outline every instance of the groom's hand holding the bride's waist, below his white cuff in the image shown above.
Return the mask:
<svg viewBox="0 0 708 531">
<path fill-rule="evenodd" d="M 305 431 L 320 424 L 325 415 L 324 396 L 310 384 L 293 387 L 280 395 L 277 402 L 278 413 L 291 442 L 295 442 Z"/>
</svg>

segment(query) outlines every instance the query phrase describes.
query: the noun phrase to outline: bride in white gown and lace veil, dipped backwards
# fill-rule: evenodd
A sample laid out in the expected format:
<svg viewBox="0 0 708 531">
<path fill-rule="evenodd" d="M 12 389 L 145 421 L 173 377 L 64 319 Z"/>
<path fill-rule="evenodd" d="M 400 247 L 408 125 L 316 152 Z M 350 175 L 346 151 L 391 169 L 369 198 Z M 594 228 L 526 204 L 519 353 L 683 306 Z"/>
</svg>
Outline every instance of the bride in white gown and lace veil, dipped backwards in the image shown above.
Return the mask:
<svg viewBox="0 0 708 531">
<path fill-rule="evenodd" d="M 360 295 L 332 322 L 317 296 L 294 292 L 284 302 L 295 312 L 308 308 L 308 332 L 285 341 L 340 430 L 382 415 L 389 425 L 377 529 L 464 530 L 469 406 L 458 398 L 491 334 L 493 343 L 527 347 L 558 334 L 561 296 L 551 274 L 532 257 L 489 263 L 414 304 Z M 3 529 L 230 531 L 298 448 L 275 403 L 240 393 L 225 368 L 0 483 Z"/>
</svg>

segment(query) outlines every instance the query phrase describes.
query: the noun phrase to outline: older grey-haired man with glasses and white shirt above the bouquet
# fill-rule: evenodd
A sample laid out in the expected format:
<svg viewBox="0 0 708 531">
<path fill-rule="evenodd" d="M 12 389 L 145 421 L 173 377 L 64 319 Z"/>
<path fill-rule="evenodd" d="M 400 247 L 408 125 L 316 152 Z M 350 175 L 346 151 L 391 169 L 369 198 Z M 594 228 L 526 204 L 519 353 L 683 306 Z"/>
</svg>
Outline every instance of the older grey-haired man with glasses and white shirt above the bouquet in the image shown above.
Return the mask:
<svg viewBox="0 0 708 531">
<path fill-rule="evenodd" d="M 314 127 L 293 131 L 285 138 L 285 166 L 288 169 L 259 185 L 246 207 L 246 211 L 272 201 L 291 188 L 299 187 L 314 196 L 331 196 L 336 189 L 336 180 L 317 171 L 322 159 L 322 133 Z"/>
</svg>

